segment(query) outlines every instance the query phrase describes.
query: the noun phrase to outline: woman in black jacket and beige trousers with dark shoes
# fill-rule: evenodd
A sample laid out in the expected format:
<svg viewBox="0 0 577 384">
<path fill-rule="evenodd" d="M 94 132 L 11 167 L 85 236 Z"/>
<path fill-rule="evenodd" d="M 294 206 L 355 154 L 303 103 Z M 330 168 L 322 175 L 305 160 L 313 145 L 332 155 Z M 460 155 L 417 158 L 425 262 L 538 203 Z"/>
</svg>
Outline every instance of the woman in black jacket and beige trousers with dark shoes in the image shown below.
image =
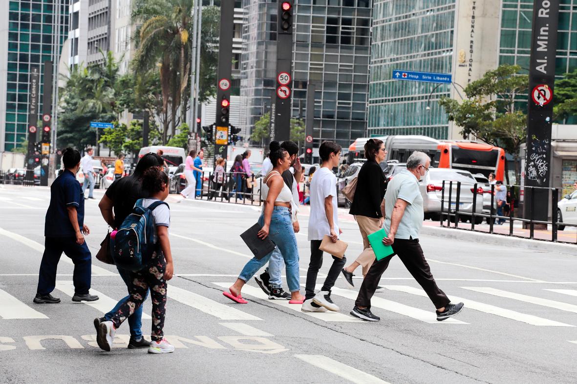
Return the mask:
<svg viewBox="0 0 577 384">
<path fill-rule="evenodd" d="M 384 209 L 381 203 L 385 196 L 385 176 L 379 163 L 384 161 L 386 156 L 387 151 L 383 141 L 373 138 L 366 142 L 367 161 L 359 171 L 357 189 L 349 211 L 350 214 L 354 214 L 361 230 L 364 250 L 351 265 L 343 268 L 344 280 L 350 288 L 354 288 L 354 270 L 362 265 L 362 274 L 365 276 L 375 258 L 367 236 L 383 227 Z"/>
</svg>

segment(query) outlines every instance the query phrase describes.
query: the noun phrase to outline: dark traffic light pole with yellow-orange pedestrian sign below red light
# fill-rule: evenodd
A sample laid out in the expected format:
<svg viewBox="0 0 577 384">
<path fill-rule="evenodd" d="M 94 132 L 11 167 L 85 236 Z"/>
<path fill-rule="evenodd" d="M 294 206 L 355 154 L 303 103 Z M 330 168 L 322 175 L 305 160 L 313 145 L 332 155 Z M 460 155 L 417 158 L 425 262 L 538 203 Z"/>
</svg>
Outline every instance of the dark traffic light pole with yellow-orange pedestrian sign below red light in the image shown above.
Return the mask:
<svg viewBox="0 0 577 384">
<path fill-rule="evenodd" d="M 220 2 L 218 84 L 216 84 L 215 160 L 227 157 L 230 78 L 233 71 L 234 0 Z"/>
</svg>

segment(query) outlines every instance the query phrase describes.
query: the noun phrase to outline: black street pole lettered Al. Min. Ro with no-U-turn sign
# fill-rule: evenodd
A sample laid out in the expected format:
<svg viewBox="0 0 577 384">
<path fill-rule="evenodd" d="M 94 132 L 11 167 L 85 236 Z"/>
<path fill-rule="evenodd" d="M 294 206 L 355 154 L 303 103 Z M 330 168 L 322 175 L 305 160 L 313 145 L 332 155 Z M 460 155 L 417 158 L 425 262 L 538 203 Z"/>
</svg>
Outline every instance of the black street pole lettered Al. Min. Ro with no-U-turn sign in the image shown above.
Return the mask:
<svg viewBox="0 0 577 384">
<path fill-rule="evenodd" d="M 559 0 L 534 0 L 533 33 L 531 35 L 531 59 L 529 66 L 529 103 L 527 110 L 527 147 L 525 151 L 524 185 L 549 187 L 551 169 L 551 123 L 553 122 L 553 85 L 557 53 L 557 25 Z M 525 191 L 523 217 L 547 221 L 547 204 L 531 204 L 549 199 L 549 190 L 535 189 L 534 194 Z M 552 212 L 552 214 L 556 214 Z M 535 228 L 545 224 L 535 224 Z"/>
</svg>

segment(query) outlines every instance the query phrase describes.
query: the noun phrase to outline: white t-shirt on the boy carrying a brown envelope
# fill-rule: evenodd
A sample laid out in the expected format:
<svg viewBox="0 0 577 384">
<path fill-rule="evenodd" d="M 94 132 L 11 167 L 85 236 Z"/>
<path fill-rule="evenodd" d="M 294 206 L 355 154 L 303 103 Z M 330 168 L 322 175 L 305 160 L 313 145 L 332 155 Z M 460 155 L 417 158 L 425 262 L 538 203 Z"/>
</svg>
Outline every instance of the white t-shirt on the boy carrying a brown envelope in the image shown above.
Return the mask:
<svg viewBox="0 0 577 384">
<path fill-rule="evenodd" d="M 310 216 L 309 241 L 323 240 L 324 235 L 331 234 L 327 213 L 324 209 L 325 198 L 332 196 L 332 222 L 335 233 L 339 235 L 338 204 L 336 199 L 336 176 L 328 168 L 320 168 L 314 172 L 310 182 Z"/>
</svg>

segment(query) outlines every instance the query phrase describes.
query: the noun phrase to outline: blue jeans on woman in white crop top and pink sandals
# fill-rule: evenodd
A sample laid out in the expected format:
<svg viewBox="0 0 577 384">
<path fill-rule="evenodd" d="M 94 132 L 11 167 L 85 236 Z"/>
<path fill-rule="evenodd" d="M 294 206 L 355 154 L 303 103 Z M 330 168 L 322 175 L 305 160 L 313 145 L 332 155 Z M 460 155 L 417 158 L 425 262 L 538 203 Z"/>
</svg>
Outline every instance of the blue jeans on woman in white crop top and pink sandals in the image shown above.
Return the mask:
<svg viewBox="0 0 577 384">
<path fill-rule="evenodd" d="M 258 224 L 264 224 L 264 213 L 261 214 L 260 219 L 258 219 Z M 298 269 L 297 238 L 294 235 L 293 223 L 288 208 L 284 206 L 273 207 L 268 237 L 276 244 L 284 259 L 288 290 L 290 292 L 300 291 L 301 288 L 299 284 L 301 277 L 299 276 Z M 275 252 L 276 249 L 260 260 L 256 257 L 250 259 L 249 262 L 246 263 L 245 268 L 242 269 L 238 278 L 245 282 L 249 281 L 254 274 L 269 261 Z"/>
</svg>

